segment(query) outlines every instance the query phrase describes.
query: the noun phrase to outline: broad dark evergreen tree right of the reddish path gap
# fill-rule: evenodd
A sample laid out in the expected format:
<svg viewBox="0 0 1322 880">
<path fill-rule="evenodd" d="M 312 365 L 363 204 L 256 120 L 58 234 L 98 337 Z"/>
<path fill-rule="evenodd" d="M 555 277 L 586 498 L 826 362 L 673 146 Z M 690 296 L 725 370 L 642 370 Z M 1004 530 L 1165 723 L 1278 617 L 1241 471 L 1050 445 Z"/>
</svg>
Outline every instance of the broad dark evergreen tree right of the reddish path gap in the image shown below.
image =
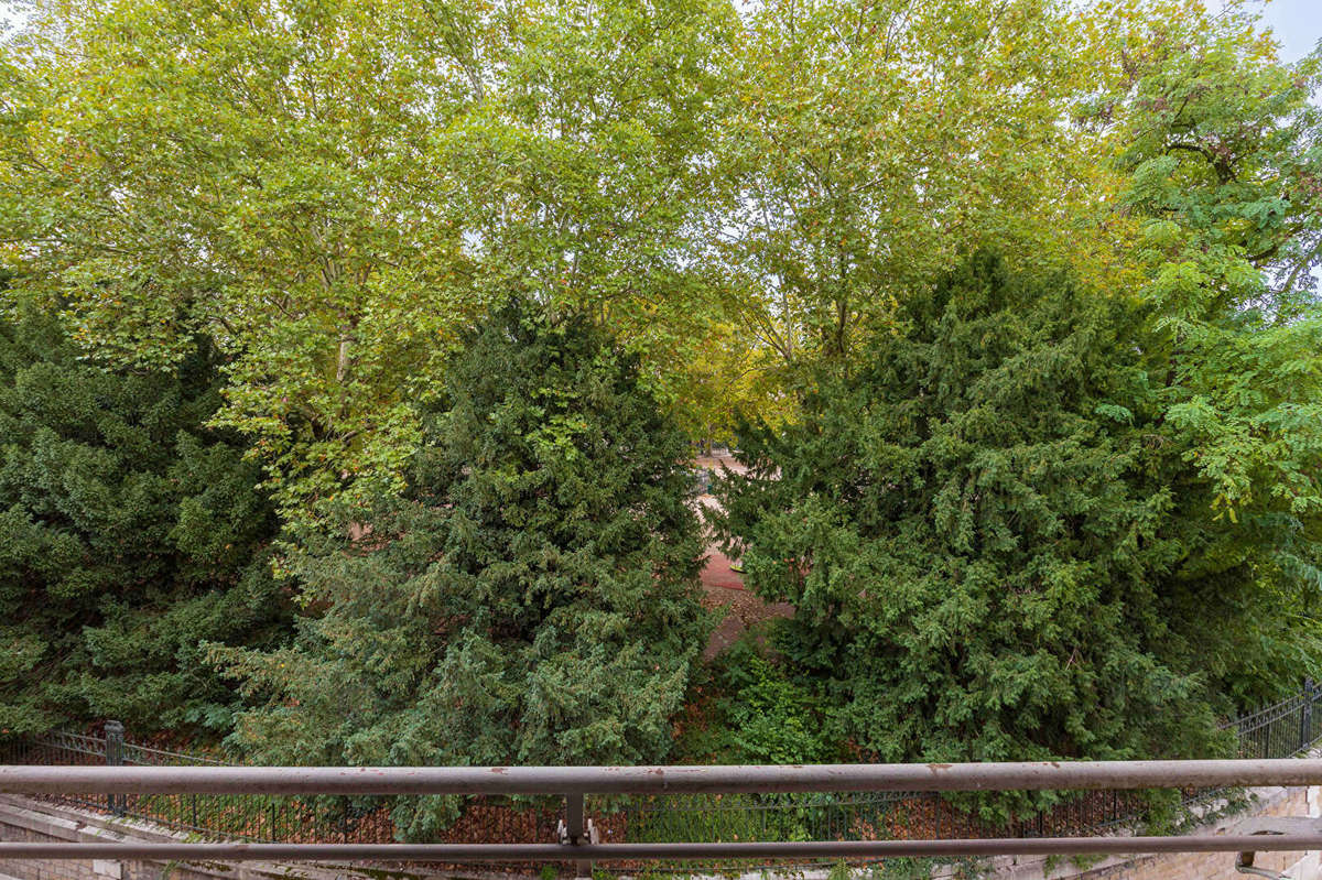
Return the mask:
<svg viewBox="0 0 1322 880">
<path fill-rule="evenodd" d="M 1318 667 L 1307 502 L 1218 517 L 1212 444 L 1169 418 L 1153 313 L 980 256 L 899 308 L 801 423 L 750 429 L 718 486 L 776 645 L 879 760 L 1192 757 L 1216 719 Z M 1314 328 L 1314 333 L 1315 333 Z M 1315 350 L 1310 357 L 1315 357 Z M 1301 353 L 1302 357 L 1302 353 Z M 1318 373 L 1261 377 L 1317 399 Z M 1311 406 L 1311 404 L 1309 404 Z"/>
</svg>

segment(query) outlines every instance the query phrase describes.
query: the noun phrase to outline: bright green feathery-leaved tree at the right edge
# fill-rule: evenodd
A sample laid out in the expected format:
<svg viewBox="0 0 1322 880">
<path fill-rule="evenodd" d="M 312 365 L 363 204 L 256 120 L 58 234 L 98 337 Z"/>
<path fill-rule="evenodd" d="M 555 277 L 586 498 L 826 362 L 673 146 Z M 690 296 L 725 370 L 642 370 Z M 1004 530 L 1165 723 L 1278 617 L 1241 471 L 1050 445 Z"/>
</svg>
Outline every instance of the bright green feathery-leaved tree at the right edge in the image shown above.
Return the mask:
<svg viewBox="0 0 1322 880">
<path fill-rule="evenodd" d="M 1141 223 L 1134 293 L 1166 418 L 1196 437 L 1212 503 L 1235 517 L 1260 493 L 1311 514 L 1322 260 L 1322 54 L 1277 61 L 1256 16 L 1190 3 L 1117 17 L 1114 87 L 1085 119 L 1108 128 L 1125 174 L 1114 210 Z M 1296 377 L 1285 383 L 1282 375 Z M 1195 453 L 1191 453 L 1195 455 Z M 1315 567 L 1297 572 L 1322 585 Z"/>
</svg>

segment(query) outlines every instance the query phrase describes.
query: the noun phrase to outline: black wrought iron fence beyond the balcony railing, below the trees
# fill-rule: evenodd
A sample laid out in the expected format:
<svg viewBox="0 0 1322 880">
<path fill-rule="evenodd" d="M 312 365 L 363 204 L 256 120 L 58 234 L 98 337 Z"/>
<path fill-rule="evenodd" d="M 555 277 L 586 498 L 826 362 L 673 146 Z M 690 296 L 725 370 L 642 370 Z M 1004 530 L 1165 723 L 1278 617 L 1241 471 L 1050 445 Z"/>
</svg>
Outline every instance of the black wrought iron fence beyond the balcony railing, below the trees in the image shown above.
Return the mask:
<svg viewBox="0 0 1322 880">
<path fill-rule="evenodd" d="M 1322 688 L 1303 691 L 1228 721 L 1239 757 L 1290 757 L 1322 739 L 1318 719 Z M 102 736 L 57 732 L 0 748 L 4 764 L 131 766 L 225 765 L 214 754 L 149 748 L 123 739 L 107 724 Z M 1218 803 L 1223 790 L 1186 790 L 1188 814 Z M 54 797 L 54 795 L 52 795 Z M 457 795 L 456 795 L 457 797 Z M 387 843 L 395 839 L 391 801 L 353 795 L 128 794 L 59 795 L 58 799 L 151 819 L 208 836 L 250 842 Z M 463 795 L 457 819 L 435 835 L 438 842 L 468 843 L 500 838 L 537 843 L 555 835 L 557 809 L 530 798 Z M 1167 802 L 1167 806 L 1169 802 Z M 1138 791 L 1076 793 L 1050 810 L 1010 821 L 989 821 L 968 798 L 935 791 L 866 794 L 686 794 L 588 795 L 603 843 L 727 843 L 739 840 L 939 840 L 948 838 L 1051 838 L 1093 835 L 1150 818 L 1153 801 Z M 1169 818 L 1169 817 L 1167 817 Z"/>
</svg>

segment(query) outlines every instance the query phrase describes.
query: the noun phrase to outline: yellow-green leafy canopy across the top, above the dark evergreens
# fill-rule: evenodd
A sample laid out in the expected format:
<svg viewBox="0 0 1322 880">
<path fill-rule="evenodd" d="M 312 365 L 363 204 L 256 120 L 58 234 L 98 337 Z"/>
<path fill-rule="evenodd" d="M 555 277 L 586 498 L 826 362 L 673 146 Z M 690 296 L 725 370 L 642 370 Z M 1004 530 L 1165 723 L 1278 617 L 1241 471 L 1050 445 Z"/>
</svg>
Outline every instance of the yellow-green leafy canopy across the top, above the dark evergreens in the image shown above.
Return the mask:
<svg viewBox="0 0 1322 880">
<path fill-rule="evenodd" d="M 1297 304 L 1317 82 L 1196 0 L 49 0 L 0 58 L 0 238 L 103 359 L 209 336 L 299 525 L 398 488 L 410 402 L 510 292 L 707 432 L 977 247 Z"/>
</svg>

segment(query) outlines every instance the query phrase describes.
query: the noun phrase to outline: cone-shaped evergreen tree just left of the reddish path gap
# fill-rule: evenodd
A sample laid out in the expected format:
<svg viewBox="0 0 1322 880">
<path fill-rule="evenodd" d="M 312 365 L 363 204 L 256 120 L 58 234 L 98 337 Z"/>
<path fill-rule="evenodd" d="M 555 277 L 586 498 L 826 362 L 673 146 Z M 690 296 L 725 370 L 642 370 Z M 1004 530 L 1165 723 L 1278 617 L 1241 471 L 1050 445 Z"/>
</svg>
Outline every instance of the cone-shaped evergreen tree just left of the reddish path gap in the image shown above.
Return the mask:
<svg viewBox="0 0 1322 880">
<path fill-rule="evenodd" d="M 705 642 L 683 435 L 635 357 L 512 301 L 465 337 L 406 492 L 299 573 L 296 645 L 217 658 L 268 703 L 234 741 L 321 764 L 639 764 Z M 408 801 L 398 827 L 449 815 Z"/>
</svg>

